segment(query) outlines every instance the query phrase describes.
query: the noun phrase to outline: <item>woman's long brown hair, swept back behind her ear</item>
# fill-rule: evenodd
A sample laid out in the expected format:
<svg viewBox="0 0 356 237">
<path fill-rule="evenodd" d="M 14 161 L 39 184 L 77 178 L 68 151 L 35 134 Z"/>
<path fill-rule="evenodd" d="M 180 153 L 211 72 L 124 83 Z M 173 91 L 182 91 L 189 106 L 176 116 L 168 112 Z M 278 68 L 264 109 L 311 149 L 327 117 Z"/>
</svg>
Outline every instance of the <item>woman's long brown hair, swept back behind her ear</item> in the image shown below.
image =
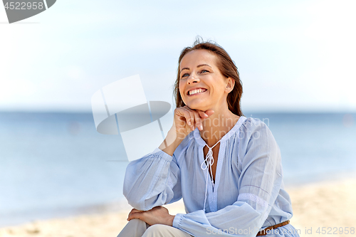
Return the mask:
<svg viewBox="0 0 356 237">
<path fill-rule="evenodd" d="M 234 61 L 230 58 L 229 54 L 226 53 L 224 48 L 219 46 L 217 43 L 211 41 L 207 41 L 207 42 L 204 42 L 202 40 L 200 41 L 200 38 L 196 39 L 192 47 L 184 48 L 179 56 L 177 80 L 174 83 L 174 95 L 176 100 L 176 106 L 183 107 L 185 105 L 179 92 L 180 63 L 182 61 L 182 58 L 187 53 L 197 49 L 205 49 L 207 51 L 210 51 L 211 53 L 214 53 L 218 58 L 217 67 L 219 68 L 221 74 L 224 75 L 226 78 L 232 78 L 235 80 L 234 89 L 231 90 L 229 95 L 227 95 L 226 100 L 229 105 L 229 110 L 231 112 L 233 112 L 235 115 L 238 116 L 244 116 L 244 114 L 241 111 L 242 83 L 239 77 L 239 71 L 237 70 Z"/>
</svg>

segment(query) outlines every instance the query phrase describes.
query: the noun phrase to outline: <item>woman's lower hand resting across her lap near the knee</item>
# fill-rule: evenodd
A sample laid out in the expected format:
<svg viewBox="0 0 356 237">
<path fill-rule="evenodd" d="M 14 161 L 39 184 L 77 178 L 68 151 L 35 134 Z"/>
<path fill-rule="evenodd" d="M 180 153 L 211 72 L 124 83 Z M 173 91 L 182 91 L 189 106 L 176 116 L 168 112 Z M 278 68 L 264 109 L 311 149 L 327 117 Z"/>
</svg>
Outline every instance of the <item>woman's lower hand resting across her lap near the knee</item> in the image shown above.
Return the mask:
<svg viewBox="0 0 356 237">
<path fill-rule="evenodd" d="M 169 215 L 168 209 L 165 207 L 156 206 L 149 211 L 139 211 L 137 209 L 132 209 L 129 216 L 127 217 L 127 221 L 135 218 L 145 221 L 150 226 L 155 224 L 172 226 L 174 216 Z"/>
</svg>

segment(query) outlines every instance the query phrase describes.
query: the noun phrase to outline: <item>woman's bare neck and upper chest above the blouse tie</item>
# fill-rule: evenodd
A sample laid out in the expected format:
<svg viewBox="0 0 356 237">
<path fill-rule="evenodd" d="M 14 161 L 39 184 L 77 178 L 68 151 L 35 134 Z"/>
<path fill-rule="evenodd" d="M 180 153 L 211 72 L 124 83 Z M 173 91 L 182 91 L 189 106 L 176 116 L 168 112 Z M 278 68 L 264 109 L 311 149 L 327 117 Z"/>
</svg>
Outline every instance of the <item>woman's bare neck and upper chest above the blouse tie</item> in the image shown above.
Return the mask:
<svg viewBox="0 0 356 237">
<path fill-rule="evenodd" d="M 227 108 L 226 110 L 214 110 L 214 114 L 202 122 L 203 130 L 199 131 L 200 136 L 209 147 L 212 147 L 236 125 L 238 120 L 239 116 Z"/>
</svg>

